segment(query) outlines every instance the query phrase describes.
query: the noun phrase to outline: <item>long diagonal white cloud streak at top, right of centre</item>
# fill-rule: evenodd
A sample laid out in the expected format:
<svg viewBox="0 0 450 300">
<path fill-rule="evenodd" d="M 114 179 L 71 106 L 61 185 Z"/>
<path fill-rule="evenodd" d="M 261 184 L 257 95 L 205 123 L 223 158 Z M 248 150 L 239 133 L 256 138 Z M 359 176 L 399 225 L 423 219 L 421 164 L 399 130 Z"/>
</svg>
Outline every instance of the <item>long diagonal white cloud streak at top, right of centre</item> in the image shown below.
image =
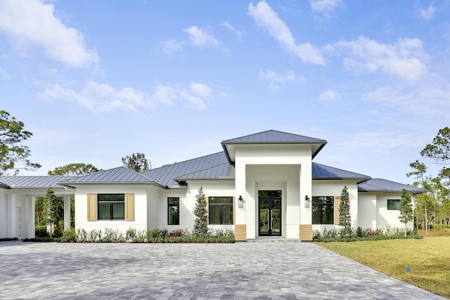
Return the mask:
<svg viewBox="0 0 450 300">
<path fill-rule="evenodd" d="M 324 65 L 325 60 L 319 50 L 309 42 L 297 44 L 295 37 L 285 22 L 281 20 L 266 1 L 260 1 L 256 6 L 248 6 L 248 15 L 252 17 L 259 27 L 264 28 L 280 43 L 282 48 L 300 58 L 303 63 Z"/>
</svg>

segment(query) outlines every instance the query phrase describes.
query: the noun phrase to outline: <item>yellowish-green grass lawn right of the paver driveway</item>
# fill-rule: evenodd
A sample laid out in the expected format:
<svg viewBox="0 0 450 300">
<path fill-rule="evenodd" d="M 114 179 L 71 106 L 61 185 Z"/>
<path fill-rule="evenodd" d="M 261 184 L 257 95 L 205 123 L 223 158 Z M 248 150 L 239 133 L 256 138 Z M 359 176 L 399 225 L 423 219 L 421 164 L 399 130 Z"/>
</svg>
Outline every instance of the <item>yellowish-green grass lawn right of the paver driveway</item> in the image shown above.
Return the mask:
<svg viewBox="0 0 450 300">
<path fill-rule="evenodd" d="M 450 236 L 422 240 L 316 242 L 387 275 L 450 298 Z M 335 246 L 338 246 L 337 248 Z M 411 272 L 407 273 L 407 268 Z"/>
</svg>

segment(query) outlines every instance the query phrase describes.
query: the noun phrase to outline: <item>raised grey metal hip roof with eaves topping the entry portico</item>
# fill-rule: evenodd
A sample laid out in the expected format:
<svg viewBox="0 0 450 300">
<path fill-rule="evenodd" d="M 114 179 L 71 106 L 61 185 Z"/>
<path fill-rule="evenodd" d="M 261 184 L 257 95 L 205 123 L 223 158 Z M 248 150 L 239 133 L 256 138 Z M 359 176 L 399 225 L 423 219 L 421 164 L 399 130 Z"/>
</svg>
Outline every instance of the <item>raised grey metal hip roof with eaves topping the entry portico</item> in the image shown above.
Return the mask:
<svg viewBox="0 0 450 300">
<path fill-rule="evenodd" d="M 298 134 L 287 133 L 283 131 L 268 130 L 262 131 L 240 138 L 231 138 L 221 142 L 229 162 L 234 162 L 233 148 L 236 145 L 313 145 L 312 158 L 316 157 L 319 151 L 326 145 L 326 141 L 319 138 L 310 138 L 309 136 L 300 136 Z"/>
</svg>

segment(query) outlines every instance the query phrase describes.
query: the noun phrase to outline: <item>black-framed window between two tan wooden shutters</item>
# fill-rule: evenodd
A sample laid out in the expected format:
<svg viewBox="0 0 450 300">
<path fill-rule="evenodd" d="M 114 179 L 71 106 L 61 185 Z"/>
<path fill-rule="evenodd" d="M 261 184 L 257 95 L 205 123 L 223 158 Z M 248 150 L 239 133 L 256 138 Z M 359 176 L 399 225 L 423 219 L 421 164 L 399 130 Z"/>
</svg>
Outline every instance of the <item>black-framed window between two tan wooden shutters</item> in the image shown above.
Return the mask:
<svg viewBox="0 0 450 300">
<path fill-rule="evenodd" d="M 98 220 L 124 220 L 124 194 L 98 194 Z"/>
</svg>

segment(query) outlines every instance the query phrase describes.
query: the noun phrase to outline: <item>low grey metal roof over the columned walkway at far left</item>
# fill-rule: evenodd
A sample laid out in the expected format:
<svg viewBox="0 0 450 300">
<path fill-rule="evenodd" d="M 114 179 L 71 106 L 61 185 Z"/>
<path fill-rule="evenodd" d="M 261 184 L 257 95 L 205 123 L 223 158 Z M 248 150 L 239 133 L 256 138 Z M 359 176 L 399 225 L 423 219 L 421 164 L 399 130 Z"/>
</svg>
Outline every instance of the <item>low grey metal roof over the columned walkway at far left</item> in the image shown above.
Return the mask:
<svg viewBox="0 0 450 300">
<path fill-rule="evenodd" d="M 1 181 L 10 188 L 64 188 L 60 181 L 67 181 L 77 176 L 2 176 Z"/>
</svg>

